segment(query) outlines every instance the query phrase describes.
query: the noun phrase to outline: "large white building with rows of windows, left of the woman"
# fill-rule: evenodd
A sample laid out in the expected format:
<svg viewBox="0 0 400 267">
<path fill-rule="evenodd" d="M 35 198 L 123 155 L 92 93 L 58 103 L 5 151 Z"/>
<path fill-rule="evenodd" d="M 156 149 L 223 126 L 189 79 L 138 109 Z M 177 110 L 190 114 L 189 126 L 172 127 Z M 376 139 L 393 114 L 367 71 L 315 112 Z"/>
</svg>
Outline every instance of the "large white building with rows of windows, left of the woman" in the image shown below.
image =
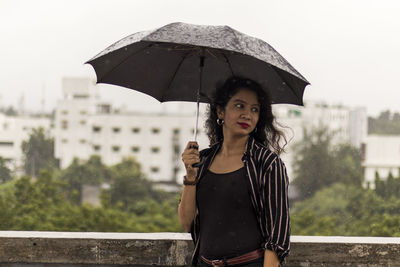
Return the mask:
<svg viewBox="0 0 400 267">
<path fill-rule="evenodd" d="M 179 114 L 116 111 L 99 99 L 87 78 L 63 79 L 63 95 L 55 119 L 55 155 L 61 168 L 75 157 L 99 155 L 106 165 L 135 157 L 153 181 L 183 177 L 181 153 L 193 139 L 194 104 L 192 112 Z M 209 143 L 202 132 L 198 142 L 201 148 Z"/>
</svg>

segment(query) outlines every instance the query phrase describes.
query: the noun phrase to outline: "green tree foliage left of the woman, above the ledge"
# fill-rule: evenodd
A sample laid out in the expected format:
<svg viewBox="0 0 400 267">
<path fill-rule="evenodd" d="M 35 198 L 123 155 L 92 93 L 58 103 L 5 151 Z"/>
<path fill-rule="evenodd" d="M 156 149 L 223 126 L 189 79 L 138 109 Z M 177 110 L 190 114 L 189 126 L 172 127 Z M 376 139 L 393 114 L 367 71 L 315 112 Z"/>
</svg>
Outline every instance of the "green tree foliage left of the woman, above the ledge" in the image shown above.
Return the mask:
<svg viewBox="0 0 400 267">
<path fill-rule="evenodd" d="M 42 171 L 35 179 L 23 176 L 1 184 L 0 230 L 182 231 L 177 216 L 177 194 L 152 189 L 152 183 L 145 179 L 133 159 L 109 168 L 93 157 L 83 163 L 75 161 L 64 171 L 61 174 Z M 72 179 L 74 175 L 80 176 Z M 70 193 L 77 185 L 101 182 L 111 184 L 102 195 L 102 206 L 71 200 Z M 114 202 L 110 201 L 111 196 Z"/>
</svg>

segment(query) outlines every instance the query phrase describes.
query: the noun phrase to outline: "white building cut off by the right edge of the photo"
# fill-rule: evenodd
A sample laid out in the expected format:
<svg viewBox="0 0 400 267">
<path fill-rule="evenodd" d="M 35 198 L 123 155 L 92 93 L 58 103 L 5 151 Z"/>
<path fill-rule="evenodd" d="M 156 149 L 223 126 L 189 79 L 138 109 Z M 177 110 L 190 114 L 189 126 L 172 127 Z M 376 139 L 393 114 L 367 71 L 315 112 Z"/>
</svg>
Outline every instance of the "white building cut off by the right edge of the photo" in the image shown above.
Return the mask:
<svg viewBox="0 0 400 267">
<path fill-rule="evenodd" d="M 400 175 L 400 135 L 369 135 L 364 147 L 365 183 L 374 187 L 375 173 L 386 179 L 389 173 Z"/>
</svg>

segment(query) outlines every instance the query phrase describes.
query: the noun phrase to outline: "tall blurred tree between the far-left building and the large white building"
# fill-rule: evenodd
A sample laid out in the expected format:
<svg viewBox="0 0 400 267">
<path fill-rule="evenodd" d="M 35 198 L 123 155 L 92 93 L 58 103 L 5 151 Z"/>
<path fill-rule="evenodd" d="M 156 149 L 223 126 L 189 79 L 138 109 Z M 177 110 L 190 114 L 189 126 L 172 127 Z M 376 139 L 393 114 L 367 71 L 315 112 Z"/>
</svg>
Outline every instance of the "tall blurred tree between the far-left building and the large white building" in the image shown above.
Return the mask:
<svg viewBox="0 0 400 267">
<path fill-rule="evenodd" d="M 36 177 L 42 169 L 58 167 L 54 157 L 54 139 L 48 137 L 42 127 L 33 129 L 29 139 L 22 142 L 21 148 L 26 174 Z"/>
</svg>

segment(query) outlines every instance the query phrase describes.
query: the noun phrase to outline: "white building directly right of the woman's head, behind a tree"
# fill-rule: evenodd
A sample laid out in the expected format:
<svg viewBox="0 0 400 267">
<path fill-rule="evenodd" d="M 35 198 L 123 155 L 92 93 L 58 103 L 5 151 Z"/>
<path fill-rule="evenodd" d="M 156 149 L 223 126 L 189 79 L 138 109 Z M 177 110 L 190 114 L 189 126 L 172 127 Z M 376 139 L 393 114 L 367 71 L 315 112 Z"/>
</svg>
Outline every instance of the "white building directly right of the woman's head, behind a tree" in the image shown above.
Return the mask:
<svg viewBox="0 0 400 267">
<path fill-rule="evenodd" d="M 282 158 L 286 164 L 289 178 L 293 178 L 293 145 L 303 139 L 303 131 L 313 127 L 328 127 L 334 134 L 333 144 L 347 142 L 360 148 L 367 137 L 368 119 L 365 107 L 345 107 L 327 105 L 320 102 L 307 102 L 304 107 L 295 105 L 273 105 L 278 123 L 283 128 L 289 142 Z"/>
</svg>

